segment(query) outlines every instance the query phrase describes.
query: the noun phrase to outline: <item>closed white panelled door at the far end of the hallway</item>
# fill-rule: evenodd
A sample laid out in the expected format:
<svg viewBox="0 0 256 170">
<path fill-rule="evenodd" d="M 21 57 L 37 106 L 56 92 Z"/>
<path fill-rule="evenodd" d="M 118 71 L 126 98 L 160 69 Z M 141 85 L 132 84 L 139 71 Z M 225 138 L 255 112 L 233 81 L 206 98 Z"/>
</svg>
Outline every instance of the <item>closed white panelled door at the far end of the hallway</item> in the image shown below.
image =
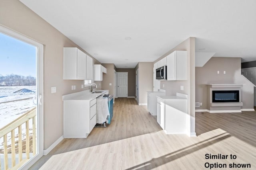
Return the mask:
<svg viewBox="0 0 256 170">
<path fill-rule="evenodd" d="M 128 72 L 117 72 L 117 97 L 128 96 Z"/>
</svg>

